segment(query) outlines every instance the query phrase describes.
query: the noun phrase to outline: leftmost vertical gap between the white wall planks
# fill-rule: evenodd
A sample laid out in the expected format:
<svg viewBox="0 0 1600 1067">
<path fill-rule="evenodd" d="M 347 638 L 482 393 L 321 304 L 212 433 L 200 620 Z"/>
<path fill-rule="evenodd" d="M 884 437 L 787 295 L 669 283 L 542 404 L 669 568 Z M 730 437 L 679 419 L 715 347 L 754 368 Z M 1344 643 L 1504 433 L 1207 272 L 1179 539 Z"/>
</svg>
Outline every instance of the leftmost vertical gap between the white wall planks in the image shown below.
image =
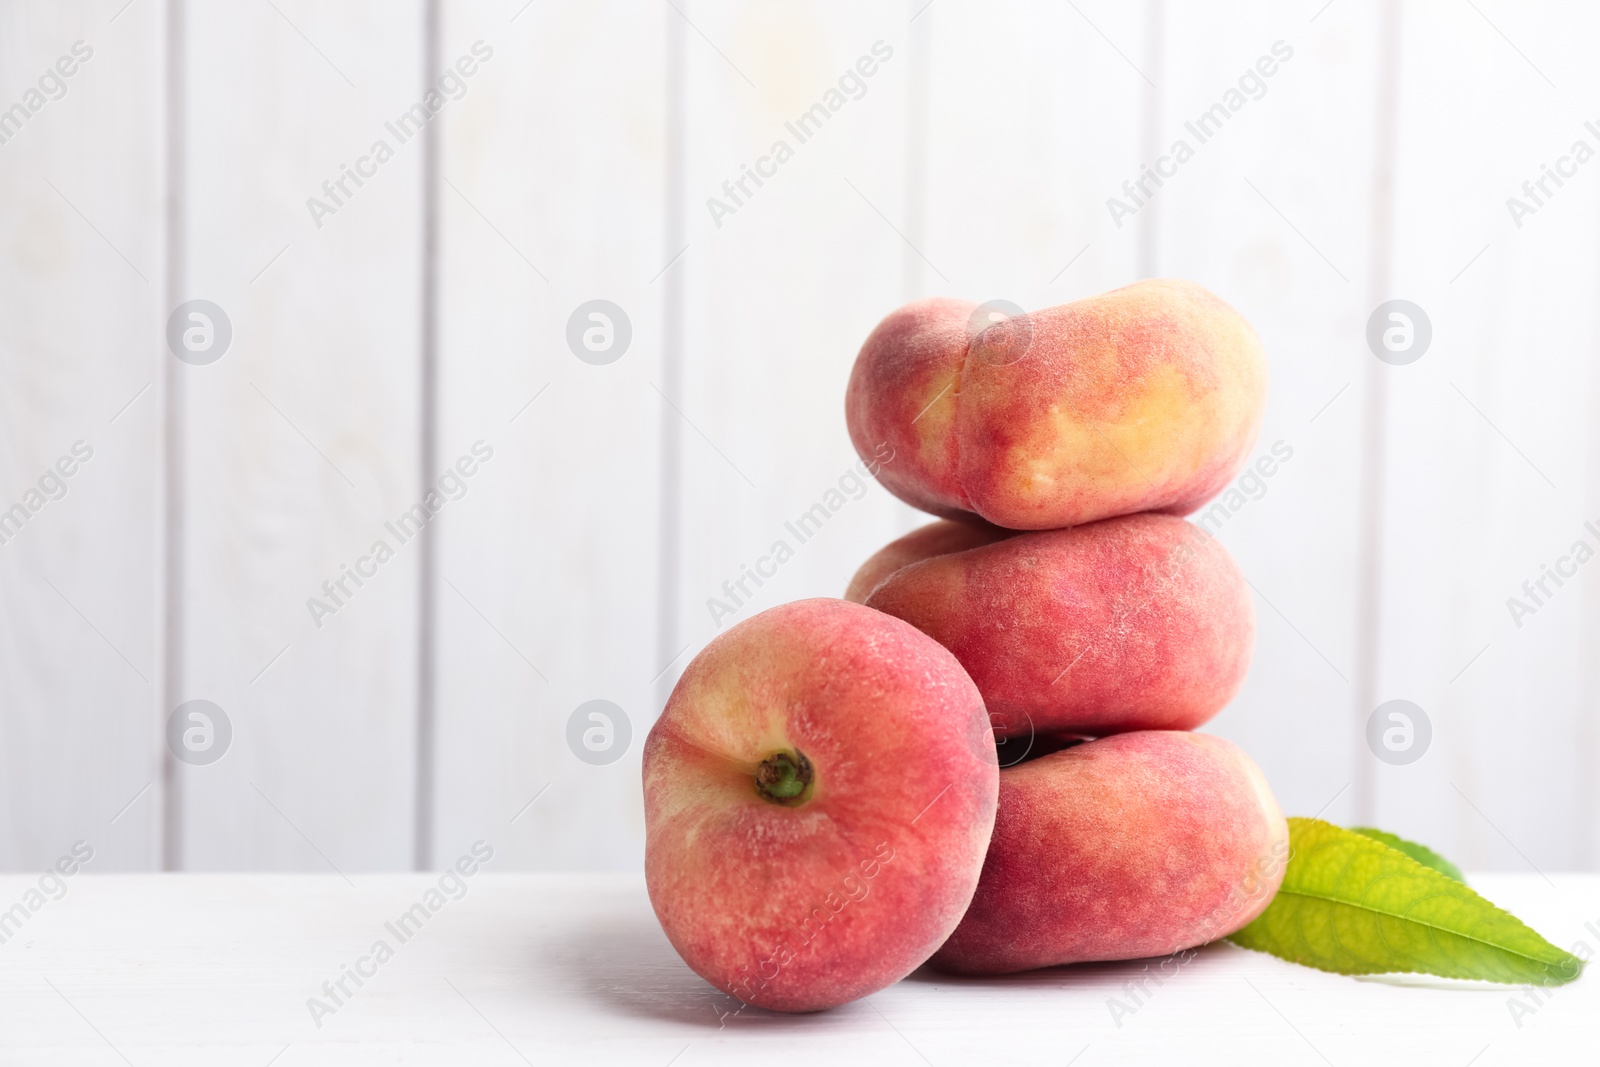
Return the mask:
<svg viewBox="0 0 1600 1067">
<path fill-rule="evenodd" d="M 186 0 L 166 0 L 166 64 L 165 64 L 165 109 L 166 128 L 166 274 L 165 293 L 166 307 L 163 312 L 182 302 L 187 274 L 186 258 L 186 218 L 187 182 L 184 181 L 186 133 L 187 133 L 187 86 L 186 77 Z M 162 625 L 158 640 L 162 641 L 162 685 L 157 696 L 157 737 L 162 760 L 162 806 L 160 806 L 160 849 L 162 870 L 182 870 L 184 867 L 184 803 L 182 781 L 178 774 L 178 758 L 166 745 L 166 715 L 182 701 L 184 689 L 184 365 L 171 358 L 160 349 L 160 360 L 166 368 L 163 381 L 163 427 L 162 427 Z"/>
</svg>

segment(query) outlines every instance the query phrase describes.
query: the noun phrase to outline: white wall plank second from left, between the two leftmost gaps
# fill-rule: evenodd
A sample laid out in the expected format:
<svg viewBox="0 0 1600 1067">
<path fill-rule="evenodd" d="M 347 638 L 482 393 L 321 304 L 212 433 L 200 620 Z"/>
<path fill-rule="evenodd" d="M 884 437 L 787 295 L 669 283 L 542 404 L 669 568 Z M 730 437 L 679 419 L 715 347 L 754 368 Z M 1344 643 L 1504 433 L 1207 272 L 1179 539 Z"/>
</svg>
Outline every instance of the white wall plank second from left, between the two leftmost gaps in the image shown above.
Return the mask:
<svg viewBox="0 0 1600 1067">
<path fill-rule="evenodd" d="M 182 699 L 235 736 L 181 771 L 186 869 L 411 859 L 421 553 L 384 522 L 419 499 L 424 146 L 386 123 L 422 94 L 421 14 L 189 5 L 186 293 L 234 342 L 184 368 Z M 379 139 L 394 158 L 314 221 Z M 376 576 L 322 589 L 378 539 Z"/>
</svg>

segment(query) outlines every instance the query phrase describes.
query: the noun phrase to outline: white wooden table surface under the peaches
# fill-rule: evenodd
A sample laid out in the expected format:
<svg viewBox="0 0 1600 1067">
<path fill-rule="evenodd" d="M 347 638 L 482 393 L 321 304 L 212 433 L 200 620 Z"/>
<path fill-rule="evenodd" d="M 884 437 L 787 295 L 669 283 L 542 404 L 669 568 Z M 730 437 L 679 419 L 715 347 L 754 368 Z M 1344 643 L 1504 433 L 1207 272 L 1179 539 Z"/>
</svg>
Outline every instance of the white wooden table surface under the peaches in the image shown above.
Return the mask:
<svg viewBox="0 0 1600 1067">
<path fill-rule="evenodd" d="M 738 1003 L 672 952 L 632 873 L 498 875 L 403 931 L 429 875 L 91 875 L 0 944 L 5 1064 L 1493 1064 L 1597 1059 L 1600 981 L 1555 990 L 1322 974 L 1229 944 L 1142 963 L 918 971 L 811 1016 Z M 1600 875 L 1478 875 L 1555 944 L 1600 947 Z M 453 888 L 448 886 L 446 888 Z M 1586 929 L 1592 925 L 1594 929 Z M 8 928 L 10 929 L 10 928 Z M 371 977 L 334 1006 L 342 966 Z M 323 997 L 315 1013 L 309 998 Z M 1112 1001 L 1122 1005 L 1112 1009 Z"/>
</svg>

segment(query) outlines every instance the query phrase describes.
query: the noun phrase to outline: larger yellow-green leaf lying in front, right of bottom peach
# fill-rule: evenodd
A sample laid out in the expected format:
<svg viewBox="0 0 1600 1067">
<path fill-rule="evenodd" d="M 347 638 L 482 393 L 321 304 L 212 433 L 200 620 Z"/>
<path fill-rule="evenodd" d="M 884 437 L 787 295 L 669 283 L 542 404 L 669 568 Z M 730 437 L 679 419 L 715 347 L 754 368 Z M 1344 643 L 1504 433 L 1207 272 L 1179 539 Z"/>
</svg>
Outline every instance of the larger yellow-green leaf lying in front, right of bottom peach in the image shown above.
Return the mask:
<svg viewBox="0 0 1600 1067">
<path fill-rule="evenodd" d="M 1229 941 L 1336 974 L 1562 985 L 1582 971 L 1461 881 L 1320 819 L 1290 819 L 1283 886 Z"/>
</svg>

